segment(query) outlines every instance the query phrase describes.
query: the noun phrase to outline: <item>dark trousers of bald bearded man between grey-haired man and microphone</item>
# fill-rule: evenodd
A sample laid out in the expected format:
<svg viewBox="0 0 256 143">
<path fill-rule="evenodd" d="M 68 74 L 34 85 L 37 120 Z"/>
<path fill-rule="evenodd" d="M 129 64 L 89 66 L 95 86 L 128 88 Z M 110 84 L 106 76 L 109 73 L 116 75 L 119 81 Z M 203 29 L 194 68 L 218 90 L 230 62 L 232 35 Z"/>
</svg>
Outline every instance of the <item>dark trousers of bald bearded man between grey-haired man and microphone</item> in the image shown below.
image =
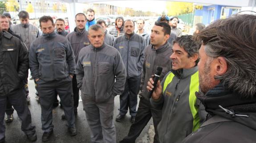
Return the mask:
<svg viewBox="0 0 256 143">
<path fill-rule="evenodd" d="M 141 76 L 129 77 L 126 79 L 125 90 L 122 95 L 120 95 L 120 115 L 126 115 L 128 107 L 130 110 L 130 115 L 136 115 L 137 106 L 137 95 L 139 92 Z"/>
</svg>

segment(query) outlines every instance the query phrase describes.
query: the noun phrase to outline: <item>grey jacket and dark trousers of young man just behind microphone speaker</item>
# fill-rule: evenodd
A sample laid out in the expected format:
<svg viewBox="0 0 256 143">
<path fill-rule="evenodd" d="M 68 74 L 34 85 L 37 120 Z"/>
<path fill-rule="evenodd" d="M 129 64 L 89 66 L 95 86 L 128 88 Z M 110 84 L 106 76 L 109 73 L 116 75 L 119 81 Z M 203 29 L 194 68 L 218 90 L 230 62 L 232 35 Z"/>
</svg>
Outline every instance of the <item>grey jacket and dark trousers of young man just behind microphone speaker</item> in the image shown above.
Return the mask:
<svg viewBox="0 0 256 143">
<path fill-rule="evenodd" d="M 157 125 L 161 120 L 162 110 L 158 110 L 151 106 L 148 96 L 149 92 L 147 91 L 146 86 L 147 81 L 149 81 L 149 79 L 155 73 L 158 66 L 163 68 L 159 77 L 160 81 L 162 81 L 163 77 L 171 70 L 171 54 L 172 45 L 167 42 L 163 46 L 160 46 L 157 50 L 155 50 L 154 46 L 152 45 L 147 46 L 145 50 L 145 60 L 143 62 L 143 72 L 140 85 L 142 96 L 140 96 L 135 122 L 131 125 L 128 135 L 120 143 L 135 143 L 135 140 L 145 128 L 151 117 L 153 118 L 155 131 L 154 143 L 159 142 Z"/>
</svg>

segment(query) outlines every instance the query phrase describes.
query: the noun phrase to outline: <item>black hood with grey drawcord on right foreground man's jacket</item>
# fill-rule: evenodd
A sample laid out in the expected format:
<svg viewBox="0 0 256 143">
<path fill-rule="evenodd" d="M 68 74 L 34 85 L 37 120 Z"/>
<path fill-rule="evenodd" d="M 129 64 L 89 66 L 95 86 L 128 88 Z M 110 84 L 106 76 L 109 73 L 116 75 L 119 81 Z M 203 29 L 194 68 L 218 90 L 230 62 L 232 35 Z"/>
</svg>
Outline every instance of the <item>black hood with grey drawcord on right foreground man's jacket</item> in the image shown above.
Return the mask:
<svg viewBox="0 0 256 143">
<path fill-rule="evenodd" d="M 241 95 L 228 90 L 222 83 L 205 95 L 196 93 L 196 97 L 211 116 L 219 115 L 256 130 L 256 98 L 241 99 Z"/>
</svg>

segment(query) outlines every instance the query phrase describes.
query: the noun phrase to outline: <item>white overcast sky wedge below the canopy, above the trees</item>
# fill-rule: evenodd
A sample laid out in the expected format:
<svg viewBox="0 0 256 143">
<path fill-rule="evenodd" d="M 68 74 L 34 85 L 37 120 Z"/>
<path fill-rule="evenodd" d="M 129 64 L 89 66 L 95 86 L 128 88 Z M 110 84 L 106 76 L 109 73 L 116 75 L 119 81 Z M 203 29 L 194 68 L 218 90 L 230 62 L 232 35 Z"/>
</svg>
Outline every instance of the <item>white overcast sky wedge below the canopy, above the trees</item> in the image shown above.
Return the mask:
<svg viewBox="0 0 256 143">
<path fill-rule="evenodd" d="M 134 10 L 157 12 L 161 14 L 166 11 L 166 1 L 162 0 L 122 0 L 122 1 L 106 1 L 100 2 L 102 4 L 111 4 L 118 7 L 128 7 Z M 97 4 L 99 4 L 97 2 Z"/>
</svg>

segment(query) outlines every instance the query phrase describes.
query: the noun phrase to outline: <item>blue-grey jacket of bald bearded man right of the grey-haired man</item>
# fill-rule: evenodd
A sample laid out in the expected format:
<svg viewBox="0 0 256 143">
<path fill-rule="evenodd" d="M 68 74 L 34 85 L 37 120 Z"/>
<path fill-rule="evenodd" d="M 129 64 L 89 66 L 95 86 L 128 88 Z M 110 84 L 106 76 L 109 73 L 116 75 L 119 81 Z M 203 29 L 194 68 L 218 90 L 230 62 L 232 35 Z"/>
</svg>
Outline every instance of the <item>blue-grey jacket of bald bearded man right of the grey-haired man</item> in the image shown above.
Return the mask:
<svg viewBox="0 0 256 143">
<path fill-rule="evenodd" d="M 118 37 L 114 42 L 126 67 L 127 78 L 137 77 L 142 73 L 142 64 L 145 58 L 145 39 L 133 33 L 128 39 L 127 35 Z"/>
</svg>

